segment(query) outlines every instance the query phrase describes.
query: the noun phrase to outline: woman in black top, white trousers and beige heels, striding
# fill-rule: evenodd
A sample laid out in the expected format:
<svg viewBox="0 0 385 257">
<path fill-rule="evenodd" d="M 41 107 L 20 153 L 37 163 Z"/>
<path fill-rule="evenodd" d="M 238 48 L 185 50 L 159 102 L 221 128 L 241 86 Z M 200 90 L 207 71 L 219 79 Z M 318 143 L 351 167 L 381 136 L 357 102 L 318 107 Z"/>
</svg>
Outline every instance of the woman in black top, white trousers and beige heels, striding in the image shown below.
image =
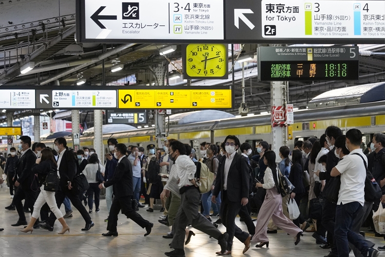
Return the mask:
<svg viewBox="0 0 385 257">
<path fill-rule="evenodd" d="M 40 210 L 42 206 L 47 203 L 51 212 L 53 212 L 56 218 L 59 220 L 60 224 L 62 224 L 63 229 L 59 234 L 64 234 L 67 230 L 69 232 L 69 226 L 66 224 L 63 218 L 62 212 L 57 208 L 56 200 L 55 200 L 55 192 L 45 191 L 43 182 L 45 181 L 47 174 L 51 171 L 57 170 L 56 161 L 53 157 L 52 151 L 49 149 L 42 150 L 42 157 L 36 159 L 36 164 L 32 167 L 32 172 L 37 174 L 37 178 L 39 180 L 40 185 L 40 194 L 38 195 L 35 204 L 33 206 L 33 213 L 31 217 L 31 221 L 28 226 L 21 230 L 24 233 L 33 231 L 33 225 L 36 222 L 36 219 L 40 215 Z M 59 173 L 59 172 L 57 172 Z M 59 174 L 58 174 L 59 175 Z"/>
</svg>

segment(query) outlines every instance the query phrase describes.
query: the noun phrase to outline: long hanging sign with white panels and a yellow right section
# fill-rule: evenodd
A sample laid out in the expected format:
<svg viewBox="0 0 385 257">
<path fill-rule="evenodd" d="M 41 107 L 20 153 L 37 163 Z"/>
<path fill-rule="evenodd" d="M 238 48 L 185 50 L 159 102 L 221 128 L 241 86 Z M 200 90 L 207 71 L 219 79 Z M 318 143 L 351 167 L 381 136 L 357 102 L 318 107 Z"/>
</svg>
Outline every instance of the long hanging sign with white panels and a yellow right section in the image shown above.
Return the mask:
<svg viewBox="0 0 385 257">
<path fill-rule="evenodd" d="M 231 108 L 229 86 L 2 86 L 1 109 Z M 28 89 L 27 89 L 28 88 Z M 32 88 L 32 89 L 31 89 Z M 61 90 L 58 90 L 60 89 Z M 17 96 L 20 94 L 20 96 Z M 17 96 L 14 97 L 13 95 Z M 12 99 L 15 99 L 14 101 Z"/>
</svg>

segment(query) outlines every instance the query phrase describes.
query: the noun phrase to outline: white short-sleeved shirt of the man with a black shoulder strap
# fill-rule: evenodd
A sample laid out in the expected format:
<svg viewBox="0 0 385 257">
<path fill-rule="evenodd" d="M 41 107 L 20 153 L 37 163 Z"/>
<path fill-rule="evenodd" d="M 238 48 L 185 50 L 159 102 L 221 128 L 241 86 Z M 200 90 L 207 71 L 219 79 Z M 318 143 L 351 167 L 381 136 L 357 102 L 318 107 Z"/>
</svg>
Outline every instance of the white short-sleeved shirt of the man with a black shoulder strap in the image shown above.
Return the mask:
<svg viewBox="0 0 385 257">
<path fill-rule="evenodd" d="M 338 162 L 336 169 L 341 173 L 341 187 L 337 205 L 358 201 L 363 206 L 365 201 L 364 188 L 367 173 L 362 158 L 354 153 L 360 154 L 368 163 L 368 158 L 362 153 L 362 149 L 353 150 Z"/>
</svg>

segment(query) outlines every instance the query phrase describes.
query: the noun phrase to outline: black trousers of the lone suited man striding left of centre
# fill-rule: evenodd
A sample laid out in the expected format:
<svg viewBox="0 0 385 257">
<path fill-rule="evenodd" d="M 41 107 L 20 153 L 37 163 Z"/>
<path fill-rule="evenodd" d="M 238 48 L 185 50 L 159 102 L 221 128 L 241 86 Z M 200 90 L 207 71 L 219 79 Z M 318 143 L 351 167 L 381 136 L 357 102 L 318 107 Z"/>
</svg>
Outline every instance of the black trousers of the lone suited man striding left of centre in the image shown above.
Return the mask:
<svg viewBox="0 0 385 257">
<path fill-rule="evenodd" d="M 146 221 L 138 212 L 132 209 L 131 204 L 132 195 L 123 196 L 123 197 L 114 197 L 112 200 L 112 205 L 110 209 L 110 214 L 108 216 L 107 230 L 111 232 L 117 231 L 118 226 L 118 214 L 120 210 L 126 215 L 127 218 L 132 219 L 132 221 L 142 228 L 147 227 L 149 221 Z"/>
</svg>

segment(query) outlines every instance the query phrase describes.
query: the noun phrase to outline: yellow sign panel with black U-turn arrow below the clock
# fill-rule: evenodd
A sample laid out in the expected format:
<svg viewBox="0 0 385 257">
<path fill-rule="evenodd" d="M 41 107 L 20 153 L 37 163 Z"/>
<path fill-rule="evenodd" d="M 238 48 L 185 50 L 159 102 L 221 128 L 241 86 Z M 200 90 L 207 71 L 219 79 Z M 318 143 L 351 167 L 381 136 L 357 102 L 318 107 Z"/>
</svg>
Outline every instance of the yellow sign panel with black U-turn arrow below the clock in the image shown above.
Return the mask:
<svg viewBox="0 0 385 257">
<path fill-rule="evenodd" d="M 119 89 L 119 108 L 231 108 L 230 89 Z"/>
</svg>

